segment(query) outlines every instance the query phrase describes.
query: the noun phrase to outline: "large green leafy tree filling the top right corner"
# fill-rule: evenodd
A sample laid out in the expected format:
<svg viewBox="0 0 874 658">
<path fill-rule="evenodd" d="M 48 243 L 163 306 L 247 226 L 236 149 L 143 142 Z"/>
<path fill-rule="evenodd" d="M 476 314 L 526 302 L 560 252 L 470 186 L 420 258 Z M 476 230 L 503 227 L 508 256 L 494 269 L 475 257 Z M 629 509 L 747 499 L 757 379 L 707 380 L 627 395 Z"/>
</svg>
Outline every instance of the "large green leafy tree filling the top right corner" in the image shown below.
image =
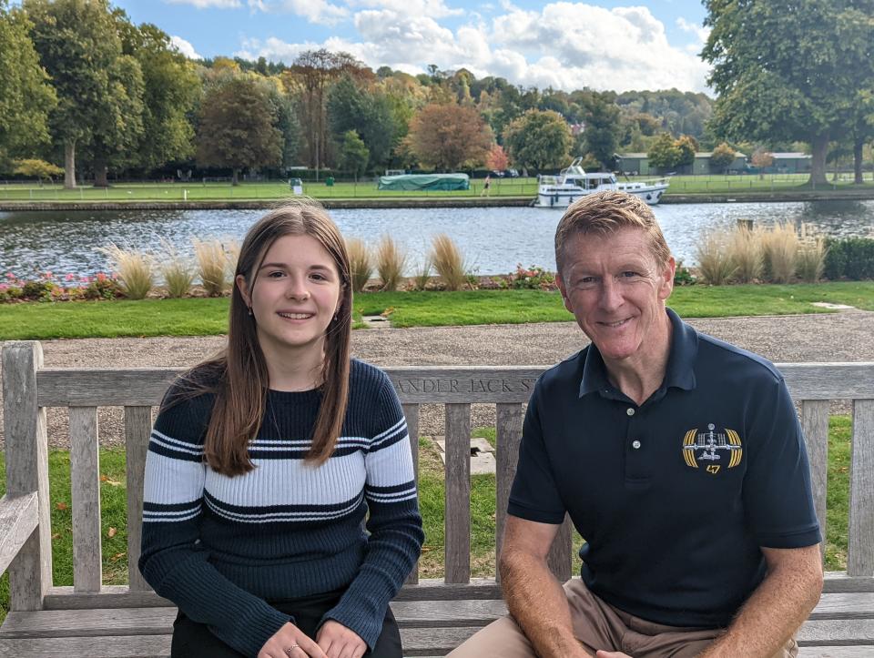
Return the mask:
<svg viewBox="0 0 874 658">
<path fill-rule="evenodd" d="M 870 3 L 706 0 L 705 5 L 711 30 L 702 56 L 713 65 L 716 133 L 808 141 L 810 182 L 825 184 L 828 142 L 849 127 L 859 89 L 871 87 Z"/>
</svg>

